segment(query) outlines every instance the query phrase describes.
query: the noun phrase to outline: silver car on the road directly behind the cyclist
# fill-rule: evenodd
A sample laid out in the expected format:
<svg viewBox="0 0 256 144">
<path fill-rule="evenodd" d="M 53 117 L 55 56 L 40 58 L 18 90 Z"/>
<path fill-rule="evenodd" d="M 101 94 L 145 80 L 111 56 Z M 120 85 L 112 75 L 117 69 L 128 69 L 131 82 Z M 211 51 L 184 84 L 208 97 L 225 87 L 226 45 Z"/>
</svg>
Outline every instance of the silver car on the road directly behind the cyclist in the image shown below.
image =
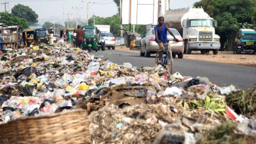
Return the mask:
<svg viewBox="0 0 256 144">
<path fill-rule="evenodd" d="M 167 32 L 167 38 L 169 41 L 169 46 L 171 47 L 171 50 L 173 52 L 173 58 L 178 55 L 178 58 L 183 58 L 183 51 L 184 51 L 184 43 L 183 39 L 177 31 L 177 29 L 170 28 L 171 32 L 177 39 L 179 39 L 179 42 L 174 41 L 173 36 L 170 35 L 169 32 Z M 155 41 L 155 31 L 154 28 L 151 28 L 148 33 L 146 33 L 146 36 L 141 40 L 140 44 L 140 56 L 150 57 L 150 54 L 156 54 L 159 50 L 158 43 Z"/>
</svg>

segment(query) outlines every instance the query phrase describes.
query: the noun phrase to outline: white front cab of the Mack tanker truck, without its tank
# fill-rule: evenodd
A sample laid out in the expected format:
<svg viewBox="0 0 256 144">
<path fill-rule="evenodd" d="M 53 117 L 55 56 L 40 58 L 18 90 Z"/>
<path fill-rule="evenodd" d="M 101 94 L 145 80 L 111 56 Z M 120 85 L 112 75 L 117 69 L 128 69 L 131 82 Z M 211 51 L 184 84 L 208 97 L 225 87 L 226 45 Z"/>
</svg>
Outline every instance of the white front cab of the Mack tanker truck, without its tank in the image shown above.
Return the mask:
<svg viewBox="0 0 256 144">
<path fill-rule="evenodd" d="M 202 54 L 218 54 L 221 48 L 220 37 L 215 34 L 217 22 L 203 9 L 190 9 L 181 20 L 183 28 L 184 50 L 190 54 L 192 50 L 200 50 Z"/>
</svg>

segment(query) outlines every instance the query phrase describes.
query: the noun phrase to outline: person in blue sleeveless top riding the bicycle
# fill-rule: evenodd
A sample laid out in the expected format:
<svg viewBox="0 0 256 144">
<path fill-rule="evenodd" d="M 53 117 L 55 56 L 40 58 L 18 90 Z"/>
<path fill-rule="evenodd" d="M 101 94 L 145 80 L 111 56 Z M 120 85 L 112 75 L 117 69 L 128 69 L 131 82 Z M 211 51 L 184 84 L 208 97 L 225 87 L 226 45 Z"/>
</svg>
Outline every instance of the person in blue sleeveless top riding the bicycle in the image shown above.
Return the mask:
<svg viewBox="0 0 256 144">
<path fill-rule="evenodd" d="M 169 29 L 168 26 L 166 26 L 165 24 L 163 24 L 164 22 L 164 18 L 163 16 L 160 16 L 158 18 L 158 26 L 155 26 L 155 36 L 156 36 L 156 43 L 158 43 L 158 46 L 160 47 L 159 51 L 163 51 L 165 48 L 163 46 L 164 43 L 168 43 L 168 39 L 167 39 L 167 31 L 173 36 L 175 41 L 179 41 L 179 39 L 177 39 L 175 37 L 175 35 L 173 35 L 173 33 L 171 32 L 171 30 Z M 160 52 L 160 58 L 162 53 Z"/>
</svg>

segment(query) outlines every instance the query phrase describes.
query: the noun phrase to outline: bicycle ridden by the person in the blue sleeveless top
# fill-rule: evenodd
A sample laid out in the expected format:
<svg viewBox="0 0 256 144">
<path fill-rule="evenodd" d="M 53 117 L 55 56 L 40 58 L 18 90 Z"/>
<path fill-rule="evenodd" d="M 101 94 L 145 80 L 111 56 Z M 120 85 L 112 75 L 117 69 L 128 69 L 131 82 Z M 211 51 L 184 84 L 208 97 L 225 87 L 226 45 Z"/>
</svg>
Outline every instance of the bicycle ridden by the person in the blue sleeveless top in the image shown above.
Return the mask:
<svg viewBox="0 0 256 144">
<path fill-rule="evenodd" d="M 163 43 L 165 50 L 161 50 L 156 53 L 156 65 L 163 65 L 167 69 L 168 73 L 173 74 L 173 54 L 171 48 L 169 48 L 169 41 Z M 161 52 L 161 58 L 160 58 Z"/>
</svg>

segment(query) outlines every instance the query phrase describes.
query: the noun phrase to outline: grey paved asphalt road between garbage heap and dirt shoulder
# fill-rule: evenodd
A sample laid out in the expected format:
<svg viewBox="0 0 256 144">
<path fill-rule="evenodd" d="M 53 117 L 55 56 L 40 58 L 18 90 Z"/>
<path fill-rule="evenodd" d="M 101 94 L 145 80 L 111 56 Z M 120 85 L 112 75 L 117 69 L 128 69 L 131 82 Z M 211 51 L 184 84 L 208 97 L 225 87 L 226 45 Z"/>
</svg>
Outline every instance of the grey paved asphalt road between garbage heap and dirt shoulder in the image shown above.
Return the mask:
<svg viewBox="0 0 256 144">
<path fill-rule="evenodd" d="M 91 52 L 95 56 L 104 56 L 111 62 L 123 64 L 129 62 L 133 66 L 153 67 L 154 56 L 151 58 L 140 57 L 138 52 L 126 52 L 123 50 L 106 50 Z M 251 88 L 256 86 L 256 68 L 225 63 L 205 62 L 200 60 L 174 59 L 174 72 L 191 77 L 208 77 L 211 82 L 219 86 L 233 84 L 238 88 Z"/>
</svg>

